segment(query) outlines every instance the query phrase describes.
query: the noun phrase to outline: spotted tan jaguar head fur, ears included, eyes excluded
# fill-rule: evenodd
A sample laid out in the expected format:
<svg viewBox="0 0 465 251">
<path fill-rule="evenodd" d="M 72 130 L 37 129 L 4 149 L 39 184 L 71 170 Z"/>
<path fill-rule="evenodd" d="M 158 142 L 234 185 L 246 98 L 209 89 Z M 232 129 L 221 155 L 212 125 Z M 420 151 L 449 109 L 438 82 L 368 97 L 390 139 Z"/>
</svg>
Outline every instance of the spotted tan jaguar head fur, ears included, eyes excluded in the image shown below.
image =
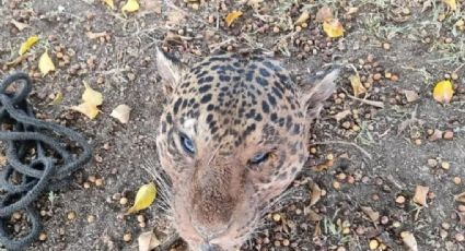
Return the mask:
<svg viewBox="0 0 465 251">
<path fill-rule="evenodd" d="M 156 58 L 171 89 L 156 146 L 173 186 L 174 226 L 190 250 L 239 248 L 304 165 L 310 123 L 337 72 L 301 89 L 259 53 L 217 55 L 190 67 L 160 50 Z M 252 163 L 259 153 L 266 159 Z"/>
</svg>

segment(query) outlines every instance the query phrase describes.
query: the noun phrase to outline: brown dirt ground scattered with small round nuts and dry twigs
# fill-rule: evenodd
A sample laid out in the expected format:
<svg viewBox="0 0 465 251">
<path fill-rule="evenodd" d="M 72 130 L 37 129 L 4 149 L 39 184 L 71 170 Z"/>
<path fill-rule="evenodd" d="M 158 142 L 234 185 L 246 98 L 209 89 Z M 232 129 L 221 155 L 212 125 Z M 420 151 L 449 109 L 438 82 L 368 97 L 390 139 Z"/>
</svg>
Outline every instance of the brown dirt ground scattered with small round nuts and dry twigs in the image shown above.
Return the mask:
<svg viewBox="0 0 465 251">
<path fill-rule="evenodd" d="M 152 180 L 144 167 L 159 166 L 154 135 L 165 97 L 155 46 L 186 62 L 263 48 L 298 80 L 326 63 L 345 65 L 291 195 L 241 250 L 407 250 L 406 232 L 418 250 L 465 250 L 465 204 L 454 200 L 465 192 L 464 1 L 452 11 L 433 0 L 144 0 L 127 16 L 124 3 L 115 0 L 111 10 L 100 0 L 1 1 L 0 76 L 15 70 L 34 76 L 31 101 L 40 118 L 82 132 L 95 155 L 67 190 L 53 200 L 44 194 L 44 240 L 28 250 L 137 250 L 141 232 L 154 229 L 161 241 L 171 235 L 160 201 L 120 217 Z M 327 38 L 316 21 L 324 5 L 344 37 Z M 243 15 L 228 27 L 232 11 Z M 310 19 L 295 25 L 305 11 Z M 40 41 L 10 65 L 32 35 Z M 37 62 L 47 48 L 57 70 L 43 77 Z M 356 72 L 367 91 L 361 100 L 349 81 Z M 455 93 L 441 105 L 432 89 L 446 79 Z M 83 82 L 104 96 L 94 120 L 70 110 Z M 59 92 L 63 100 L 48 105 Z M 132 108 L 127 124 L 109 116 L 120 104 Z M 417 186 L 429 188 L 426 205 L 414 201 Z M 185 248 L 177 241 L 171 249 Z"/>
</svg>

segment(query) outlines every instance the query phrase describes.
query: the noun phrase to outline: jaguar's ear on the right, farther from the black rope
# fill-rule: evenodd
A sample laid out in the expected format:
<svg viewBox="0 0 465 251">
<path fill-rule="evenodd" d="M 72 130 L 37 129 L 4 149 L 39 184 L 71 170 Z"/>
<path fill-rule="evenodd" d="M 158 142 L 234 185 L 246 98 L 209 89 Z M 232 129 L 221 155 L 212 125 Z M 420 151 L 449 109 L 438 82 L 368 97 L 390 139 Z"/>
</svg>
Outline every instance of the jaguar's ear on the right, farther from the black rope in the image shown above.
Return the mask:
<svg viewBox="0 0 465 251">
<path fill-rule="evenodd" d="M 323 103 L 330 97 L 336 89 L 336 79 L 339 76 L 339 69 L 333 69 L 321 80 L 307 79 L 303 81 L 300 104 L 306 112 L 309 121 L 315 119 L 323 108 Z"/>
</svg>

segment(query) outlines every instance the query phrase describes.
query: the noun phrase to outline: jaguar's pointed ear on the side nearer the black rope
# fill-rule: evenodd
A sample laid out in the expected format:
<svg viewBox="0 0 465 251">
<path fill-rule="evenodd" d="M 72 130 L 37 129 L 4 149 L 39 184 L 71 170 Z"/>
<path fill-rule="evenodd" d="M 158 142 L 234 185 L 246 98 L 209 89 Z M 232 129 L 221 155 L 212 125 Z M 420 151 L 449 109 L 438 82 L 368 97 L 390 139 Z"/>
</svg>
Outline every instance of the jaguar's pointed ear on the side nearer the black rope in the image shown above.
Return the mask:
<svg viewBox="0 0 465 251">
<path fill-rule="evenodd" d="M 175 89 L 186 69 L 175 56 L 156 47 L 156 69 L 168 91 Z"/>
</svg>

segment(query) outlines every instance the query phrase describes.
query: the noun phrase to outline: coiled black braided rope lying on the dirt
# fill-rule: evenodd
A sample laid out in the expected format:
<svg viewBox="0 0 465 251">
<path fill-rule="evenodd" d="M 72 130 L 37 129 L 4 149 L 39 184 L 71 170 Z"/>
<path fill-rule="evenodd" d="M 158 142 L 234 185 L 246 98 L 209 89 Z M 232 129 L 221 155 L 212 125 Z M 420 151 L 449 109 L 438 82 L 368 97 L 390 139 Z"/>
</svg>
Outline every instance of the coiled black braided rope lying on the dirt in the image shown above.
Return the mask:
<svg viewBox="0 0 465 251">
<path fill-rule="evenodd" d="M 8 91 L 13 83 L 21 87 Z M 35 118 L 26 100 L 31 89 L 31 79 L 22 72 L 7 76 L 0 85 L 0 141 L 5 142 L 8 159 L 0 172 L 0 243 L 9 250 L 24 249 L 37 239 L 42 225 L 33 202 L 43 192 L 62 187 L 92 157 L 91 146 L 81 134 Z M 71 154 L 62 138 L 75 142 L 81 153 Z M 24 211 L 31 225 L 28 234 L 21 237 L 7 229 L 18 211 Z"/>
</svg>

